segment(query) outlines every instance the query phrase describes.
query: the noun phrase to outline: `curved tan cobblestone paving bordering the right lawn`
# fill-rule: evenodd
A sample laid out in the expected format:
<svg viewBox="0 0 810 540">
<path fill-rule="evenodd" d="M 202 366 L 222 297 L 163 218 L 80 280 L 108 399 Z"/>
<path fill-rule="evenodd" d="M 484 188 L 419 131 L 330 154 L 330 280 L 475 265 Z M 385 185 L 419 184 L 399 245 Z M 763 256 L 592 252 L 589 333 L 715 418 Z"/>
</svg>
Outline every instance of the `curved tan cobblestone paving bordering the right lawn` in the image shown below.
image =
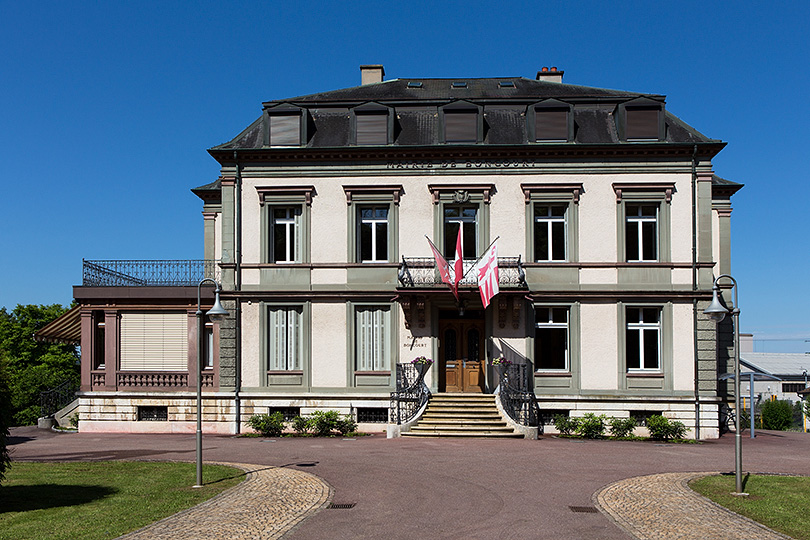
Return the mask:
<svg viewBox="0 0 810 540">
<path fill-rule="evenodd" d="M 698 495 L 687 483 L 712 473 L 637 476 L 602 488 L 598 507 L 641 540 L 784 540 L 790 538 Z"/>
</svg>

